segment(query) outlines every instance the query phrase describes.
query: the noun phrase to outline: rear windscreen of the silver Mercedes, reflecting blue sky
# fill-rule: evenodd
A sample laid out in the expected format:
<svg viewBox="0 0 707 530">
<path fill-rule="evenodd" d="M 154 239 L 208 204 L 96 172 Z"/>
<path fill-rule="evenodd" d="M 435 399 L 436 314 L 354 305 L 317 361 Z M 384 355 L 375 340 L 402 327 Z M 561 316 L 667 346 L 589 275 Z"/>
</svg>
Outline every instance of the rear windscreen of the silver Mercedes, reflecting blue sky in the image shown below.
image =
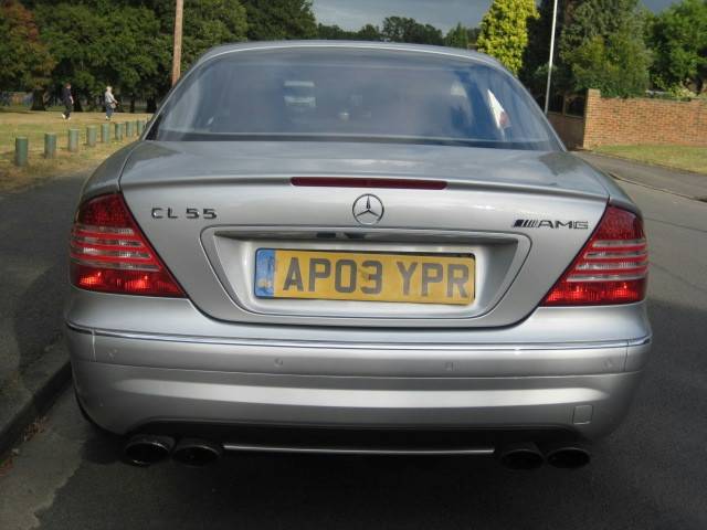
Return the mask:
<svg viewBox="0 0 707 530">
<path fill-rule="evenodd" d="M 149 138 L 559 148 L 536 103 L 505 72 L 442 54 L 340 47 L 207 61 L 177 87 Z"/>
</svg>

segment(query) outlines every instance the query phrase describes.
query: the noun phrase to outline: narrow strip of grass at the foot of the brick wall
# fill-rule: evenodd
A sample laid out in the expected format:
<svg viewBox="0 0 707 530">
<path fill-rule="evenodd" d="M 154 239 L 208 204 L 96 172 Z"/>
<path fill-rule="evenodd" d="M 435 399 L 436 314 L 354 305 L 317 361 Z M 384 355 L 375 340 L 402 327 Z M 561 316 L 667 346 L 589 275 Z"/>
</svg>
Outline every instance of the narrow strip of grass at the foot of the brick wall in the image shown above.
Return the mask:
<svg viewBox="0 0 707 530">
<path fill-rule="evenodd" d="M 599 153 L 707 174 L 707 147 L 602 146 Z"/>
</svg>

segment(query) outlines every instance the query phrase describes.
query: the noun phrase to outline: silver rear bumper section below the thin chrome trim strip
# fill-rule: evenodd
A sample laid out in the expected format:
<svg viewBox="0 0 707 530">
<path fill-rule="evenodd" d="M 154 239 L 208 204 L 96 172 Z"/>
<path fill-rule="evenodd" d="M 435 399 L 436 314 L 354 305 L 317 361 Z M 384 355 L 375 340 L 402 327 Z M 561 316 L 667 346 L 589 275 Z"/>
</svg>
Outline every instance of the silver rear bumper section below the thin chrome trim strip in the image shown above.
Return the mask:
<svg viewBox="0 0 707 530">
<path fill-rule="evenodd" d="M 625 414 L 650 348 L 650 338 L 521 348 L 66 333 L 83 405 L 120 434 L 197 422 L 595 438 Z"/>
</svg>

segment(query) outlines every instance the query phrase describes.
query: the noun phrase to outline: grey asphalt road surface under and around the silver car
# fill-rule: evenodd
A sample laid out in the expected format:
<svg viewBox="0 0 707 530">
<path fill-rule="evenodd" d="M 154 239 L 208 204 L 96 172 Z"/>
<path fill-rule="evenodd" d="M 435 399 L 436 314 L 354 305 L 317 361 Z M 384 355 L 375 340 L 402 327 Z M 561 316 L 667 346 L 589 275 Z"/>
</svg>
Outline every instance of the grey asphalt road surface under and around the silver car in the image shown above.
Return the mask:
<svg viewBox="0 0 707 530">
<path fill-rule="evenodd" d="M 707 528 L 707 204 L 624 188 L 646 218 L 655 346 L 629 417 L 590 466 L 239 455 L 135 468 L 67 391 L 0 478 L 0 528 Z"/>
</svg>

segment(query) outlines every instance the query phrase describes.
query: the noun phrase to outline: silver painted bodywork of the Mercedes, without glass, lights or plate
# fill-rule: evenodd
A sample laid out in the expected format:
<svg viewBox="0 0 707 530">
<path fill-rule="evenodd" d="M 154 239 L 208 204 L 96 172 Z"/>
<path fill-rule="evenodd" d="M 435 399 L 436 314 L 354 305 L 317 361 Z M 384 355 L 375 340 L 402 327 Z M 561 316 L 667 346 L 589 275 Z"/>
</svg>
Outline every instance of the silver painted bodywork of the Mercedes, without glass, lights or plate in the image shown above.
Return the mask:
<svg viewBox="0 0 707 530">
<path fill-rule="evenodd" d="M 221 54 L 273 46 L 401 49 L 500 68 L 473 52 L 329 42 L 220 47 L 196 67 Z M 303 176 L 441 179 L 449 186 L 370 190 L 386 214 L 361 226 L 351 205 L 369 190 L 289 184 Z M 77 393 L 91 416 L 117 433 L 173 420 L 549 426 L 593 438 L 625 414 L 647 360 L 645 303 L 538 307 L 606 203 L 635 210 L 611 179 L 562 150 L 143 139 L 104 162 L 82 197 L 115 191 L 189 295 L 72 289 L 65 318 Z M 303 203 L 307 208 L 293 208 Z M 155 220 L 155 206 L 213 208 L 218 219 Z M 519 218 L 581 220 L 590 230 L 514 229 Z M 471 252 L 477 298 L 468 308 L 260 300 L 251 295 L 260 246 Z M 296 449 L 238 441 L 226 448 Z M 297 451 L 324 449 L 305 444 Z"/>
</svg>

